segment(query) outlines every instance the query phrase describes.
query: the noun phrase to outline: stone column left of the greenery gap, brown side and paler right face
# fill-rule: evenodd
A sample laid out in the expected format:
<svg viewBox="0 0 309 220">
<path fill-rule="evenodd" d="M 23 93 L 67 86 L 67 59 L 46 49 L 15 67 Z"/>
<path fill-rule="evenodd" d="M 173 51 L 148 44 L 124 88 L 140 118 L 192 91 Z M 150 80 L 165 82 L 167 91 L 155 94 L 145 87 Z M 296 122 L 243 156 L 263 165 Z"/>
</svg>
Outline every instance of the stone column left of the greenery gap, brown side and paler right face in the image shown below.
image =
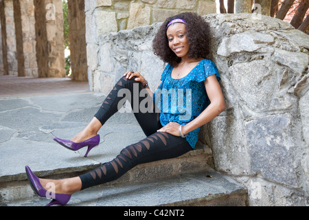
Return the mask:
<svg viewBox="0 0 309 220">
<path fill-rule="evenodd" d="M 34 0 L 38 77 L 65 77 L 61 0 Z"/>
</svg>

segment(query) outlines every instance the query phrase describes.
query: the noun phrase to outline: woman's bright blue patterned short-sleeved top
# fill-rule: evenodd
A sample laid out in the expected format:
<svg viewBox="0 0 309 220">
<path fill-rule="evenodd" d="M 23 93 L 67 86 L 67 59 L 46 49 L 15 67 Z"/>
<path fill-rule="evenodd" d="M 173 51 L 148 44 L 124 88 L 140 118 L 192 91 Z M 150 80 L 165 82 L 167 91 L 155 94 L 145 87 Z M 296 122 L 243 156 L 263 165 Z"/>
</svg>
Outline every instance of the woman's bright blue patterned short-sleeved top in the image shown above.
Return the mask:
<svg viewBox="0 0 309 220">
<path fill-rule="evenodd" d="M 204 81 L 208 76 L 216 74 L 220 76 L 216 65 L 207 59 L 200 61 L 187 76 L 172 78 L 173 67 L 166 65 L 161 75 L 161 84 L 153 96 L 157 108 L 160 110 L 160 122 L 165 126 L 169 122 L 177 122 L 185 125 L 206 109 L 210 104 Z M 198 141 L 200 128 L 187 134 L 186 140 L 195 147 Z"/>
</svg>

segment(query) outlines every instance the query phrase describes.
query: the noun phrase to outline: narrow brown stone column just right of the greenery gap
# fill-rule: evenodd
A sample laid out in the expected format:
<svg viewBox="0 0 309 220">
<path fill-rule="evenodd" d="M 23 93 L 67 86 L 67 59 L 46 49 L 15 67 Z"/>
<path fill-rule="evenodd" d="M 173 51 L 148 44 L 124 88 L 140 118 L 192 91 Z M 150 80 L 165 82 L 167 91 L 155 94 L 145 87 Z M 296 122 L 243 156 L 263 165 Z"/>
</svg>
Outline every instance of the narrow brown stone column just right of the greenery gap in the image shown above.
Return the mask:
<svg viewBox="0 0 309 220">
<path fill-rule="evenodd" d="M 69 0 L 69 39 L 72 80 L 87 81 L 87 45 L 84 0 Z"/>
</svg>

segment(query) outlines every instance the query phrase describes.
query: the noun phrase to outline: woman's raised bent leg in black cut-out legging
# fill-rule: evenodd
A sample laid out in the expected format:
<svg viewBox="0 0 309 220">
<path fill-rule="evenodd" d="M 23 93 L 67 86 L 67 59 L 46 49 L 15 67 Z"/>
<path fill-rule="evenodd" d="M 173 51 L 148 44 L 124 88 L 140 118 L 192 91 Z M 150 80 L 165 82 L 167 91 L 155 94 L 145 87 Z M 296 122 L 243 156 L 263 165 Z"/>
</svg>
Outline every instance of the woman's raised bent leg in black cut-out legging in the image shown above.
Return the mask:
<svg viewBox="0 0 309 220">
<path fill-rule="evenodd" d="M 126 77 L 120 78 L 113 90 L 104 100 L 98 112 L 95 113 L 95 117 L 80 133 L 74 136 L 71 141 L 78 143 L 97 135 L 102 125 L 119 110 L 119 102 L 124 104 L 124 100 L 130 101 L 132 109 L 135 110 L 135 118 L 137 118 L 137 122 L 141 125 L 141 129 L 143 129 L 144 133 L 147 136 L 155 133 L 160 126 L 159 113 L 156 113 L 154 104 L 152 104 L 152 107 L 147 107 L 147 109 L 152 109 L 152 111 L 146 111 L 144 113 L 139 111 L 139 104 L 143 100 L 145 102 L 146 99 L 150 99 L 147 103 L 152 103 L 152 98 L 149 94 L 146 97 L 139 97 L 139 94 L 144 87 L 134 79 L 134 77 L 131 79 L 127 79 Z M 126 91 L 129 92 L 129 97 L 122 97 L 119 95 L 121 94 L 119 91 L 122 89 L 126 89 Z"/>
</svg>

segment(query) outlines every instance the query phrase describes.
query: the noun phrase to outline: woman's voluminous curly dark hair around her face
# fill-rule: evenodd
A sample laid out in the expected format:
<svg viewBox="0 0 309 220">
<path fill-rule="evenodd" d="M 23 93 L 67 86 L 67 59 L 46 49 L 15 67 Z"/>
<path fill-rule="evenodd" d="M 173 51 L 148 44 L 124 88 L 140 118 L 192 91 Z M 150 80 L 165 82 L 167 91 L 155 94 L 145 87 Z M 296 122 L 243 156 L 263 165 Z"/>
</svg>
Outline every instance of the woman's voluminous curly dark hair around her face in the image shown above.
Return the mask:
<svg viewBox="0 0 309 220">
<path fill-rule="evenodd" d="M 180 63 L 181 58 L 176 56 L 168 46 L 168 36 L 166 35 L 166 26 L 174 19 L 186 21 L 186 36 L 190 45 L 189 58 L 206 58 L 209 54 L 209 25 L 194 12 L 183 12 L 169 17 L 163 22 L 152 41 L 155 55 L 159 56 L 165 63 L 170 63 L 173 67 Z"/>
</svg>

